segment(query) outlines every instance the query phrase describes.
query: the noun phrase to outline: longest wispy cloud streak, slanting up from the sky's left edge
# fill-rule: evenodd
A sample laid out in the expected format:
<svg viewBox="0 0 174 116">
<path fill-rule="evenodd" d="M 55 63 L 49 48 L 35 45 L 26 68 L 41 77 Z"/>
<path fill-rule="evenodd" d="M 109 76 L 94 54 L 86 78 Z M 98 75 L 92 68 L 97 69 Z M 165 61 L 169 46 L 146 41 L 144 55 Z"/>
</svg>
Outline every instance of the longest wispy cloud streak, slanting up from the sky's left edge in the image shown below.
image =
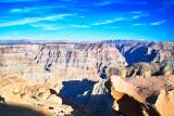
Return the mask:
<svg viewBox="0 0 174 116">
<path fill-rule="evenodd" d="M 26 17 L 23 20 L 17 20 L 17 21 L 9 21 L 9 22 L 3 22 L 0 23 L 0 27 L 9 27 L 9 26 L 16 26 L 16 25 L 26 25 L 26 24 L 32 24 L 32 23 L 37 23 L 41 21 L 57 21 L 57 20 L 62 20 L 67 16 L 72 16 L 75 14 L 54 14 L 51 16 L 45 16 L 45 17 Z"/>
</svg>

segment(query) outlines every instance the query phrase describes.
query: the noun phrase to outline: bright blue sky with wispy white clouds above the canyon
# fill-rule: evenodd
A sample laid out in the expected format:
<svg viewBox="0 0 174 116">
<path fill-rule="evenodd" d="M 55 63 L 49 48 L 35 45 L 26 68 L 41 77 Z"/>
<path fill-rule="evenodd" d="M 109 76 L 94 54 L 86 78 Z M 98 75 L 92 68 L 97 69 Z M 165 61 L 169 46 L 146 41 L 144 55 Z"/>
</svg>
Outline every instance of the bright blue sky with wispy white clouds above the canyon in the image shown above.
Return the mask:
<svg viewBox="0 0 174 116">
<path fill-rule="evenodd" d="M 0 39 L 174 41 L 174 0 L 0 0 Z"/>
</svg>

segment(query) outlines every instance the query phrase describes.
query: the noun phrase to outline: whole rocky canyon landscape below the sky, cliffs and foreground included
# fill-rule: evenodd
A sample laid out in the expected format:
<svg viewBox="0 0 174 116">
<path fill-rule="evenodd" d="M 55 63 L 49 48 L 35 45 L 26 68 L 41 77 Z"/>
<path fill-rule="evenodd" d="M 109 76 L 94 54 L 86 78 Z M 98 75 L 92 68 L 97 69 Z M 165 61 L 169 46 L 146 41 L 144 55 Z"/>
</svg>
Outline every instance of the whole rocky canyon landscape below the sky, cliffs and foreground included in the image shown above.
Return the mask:
<svg viewBox="0 0 174 116">
<path fill-rule="evenodd" d="M 0 42 L 2 116 L 173 116 L 174 42 Z"/>
</svg>

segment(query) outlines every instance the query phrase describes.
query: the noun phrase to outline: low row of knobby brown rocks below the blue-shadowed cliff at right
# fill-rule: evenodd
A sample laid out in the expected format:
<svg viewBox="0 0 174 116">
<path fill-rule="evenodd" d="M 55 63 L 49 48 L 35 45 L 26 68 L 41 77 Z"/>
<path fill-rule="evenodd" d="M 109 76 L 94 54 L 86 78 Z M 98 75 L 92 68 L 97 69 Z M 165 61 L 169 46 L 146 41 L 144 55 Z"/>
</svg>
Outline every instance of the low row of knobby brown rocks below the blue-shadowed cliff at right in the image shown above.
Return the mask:
<svg viewBox="0 0 174 116">
<path fill-rule="evenodd" d="M 111 77 L 112 75 L 117 75 L 121 77 L 135 77 L 140 76 L 144 78 L 151 78 L 152 76 L 160 75 L 174 75 L 174 63 L 167 62 L 165 64 L 160 63 L 135 63 L 132 66 L 127 67 L 108 67 L 107 76 Z"/>
</svg>

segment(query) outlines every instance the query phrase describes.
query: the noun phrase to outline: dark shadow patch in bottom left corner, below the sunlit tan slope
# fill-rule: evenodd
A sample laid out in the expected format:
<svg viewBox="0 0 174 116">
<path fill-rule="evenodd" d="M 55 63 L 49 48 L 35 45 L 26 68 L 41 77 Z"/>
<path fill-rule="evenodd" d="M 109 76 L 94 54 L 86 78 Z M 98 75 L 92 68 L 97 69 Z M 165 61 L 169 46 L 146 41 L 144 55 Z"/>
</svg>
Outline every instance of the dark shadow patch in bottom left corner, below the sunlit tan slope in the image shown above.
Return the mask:
<svg viewBox="0 0 174 116">
<path fill-rule="evenodd" d="M 46 116 L 45 114 L 32 108 L 18 105 L 7 105 L 0 103 L 0 116 Z"/>
</svg>

